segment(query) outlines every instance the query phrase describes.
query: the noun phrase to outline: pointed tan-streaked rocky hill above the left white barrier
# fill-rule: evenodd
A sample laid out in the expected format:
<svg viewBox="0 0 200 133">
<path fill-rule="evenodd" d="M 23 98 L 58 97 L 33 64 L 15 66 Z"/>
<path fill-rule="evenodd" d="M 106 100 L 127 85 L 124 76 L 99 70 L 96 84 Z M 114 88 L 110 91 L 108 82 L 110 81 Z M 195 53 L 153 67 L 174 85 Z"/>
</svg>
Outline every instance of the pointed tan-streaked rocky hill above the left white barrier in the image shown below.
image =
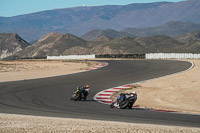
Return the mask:
<svg viewBox="0 0 200 133">
<path fill-rule="evenodd" d="M 71 34 L 50 33 L 40 39 L 37 43 L 16 53 L 15 57 L 46 57 L 48 55 L 67 54 L 66 50 L 75 46 L 85 46 L 87 42 Z"/>
</svg>

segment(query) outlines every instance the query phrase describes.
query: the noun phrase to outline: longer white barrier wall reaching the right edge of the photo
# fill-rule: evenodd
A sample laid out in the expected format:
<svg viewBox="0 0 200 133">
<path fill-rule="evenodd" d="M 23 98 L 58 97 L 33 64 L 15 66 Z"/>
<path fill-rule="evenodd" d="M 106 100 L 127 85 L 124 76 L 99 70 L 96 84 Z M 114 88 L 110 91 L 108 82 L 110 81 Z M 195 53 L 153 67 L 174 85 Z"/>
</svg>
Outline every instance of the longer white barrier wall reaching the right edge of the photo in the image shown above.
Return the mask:
<svg viewBox="0 0 200 133">
<path fill-rule="evenodd" d="M 146 59 L 200 59 L 200 54 L 192 53 L 149 53 Z"/>
</svg>

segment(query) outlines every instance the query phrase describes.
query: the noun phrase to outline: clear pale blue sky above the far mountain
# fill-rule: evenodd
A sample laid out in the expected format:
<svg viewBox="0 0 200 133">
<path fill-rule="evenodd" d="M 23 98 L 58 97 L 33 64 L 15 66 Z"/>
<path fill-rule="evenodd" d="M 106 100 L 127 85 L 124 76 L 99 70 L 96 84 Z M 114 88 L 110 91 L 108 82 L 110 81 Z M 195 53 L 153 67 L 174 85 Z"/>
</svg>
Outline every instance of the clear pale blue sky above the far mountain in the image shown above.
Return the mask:
<svg viewBox="0 0 200 133">
<path fill-rule="evenodd" d="M 76 6 L 126 5 L 131 3 L 178 2 L 183 0 L 0 0 L 0 16 L 9 17 L 32 12 Z"/>
</svg>

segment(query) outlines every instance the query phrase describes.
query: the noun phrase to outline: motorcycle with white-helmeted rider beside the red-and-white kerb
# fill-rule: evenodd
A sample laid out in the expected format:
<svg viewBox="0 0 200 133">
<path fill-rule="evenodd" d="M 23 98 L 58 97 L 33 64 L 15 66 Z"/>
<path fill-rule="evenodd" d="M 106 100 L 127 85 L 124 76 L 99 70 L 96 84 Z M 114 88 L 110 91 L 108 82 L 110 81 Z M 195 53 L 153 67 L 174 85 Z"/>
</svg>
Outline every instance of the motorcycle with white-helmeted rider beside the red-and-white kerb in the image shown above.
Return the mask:
<svg viewBox="0 0 200 133">
<path fill-rule="evenodd" d="M 126 94 L 124 97 L 119 96 L 111 105 L 110 108 L 132 109 L 133 104 L 137 100 L 137 95 Z"/>
</svg>

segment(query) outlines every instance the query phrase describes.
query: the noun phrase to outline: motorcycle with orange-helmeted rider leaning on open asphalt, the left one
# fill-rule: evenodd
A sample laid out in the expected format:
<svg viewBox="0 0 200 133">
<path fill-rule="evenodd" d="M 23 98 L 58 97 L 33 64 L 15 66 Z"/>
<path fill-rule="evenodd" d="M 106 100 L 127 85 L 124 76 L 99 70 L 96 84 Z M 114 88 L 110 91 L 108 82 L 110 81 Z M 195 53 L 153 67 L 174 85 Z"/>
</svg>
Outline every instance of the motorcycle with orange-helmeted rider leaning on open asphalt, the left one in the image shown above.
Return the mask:
<svg viewBox="0 0 200 133">
<path fill-rule="evenodd" d="M 89 88 L 78 88 L 76 92 L 73 92 L 73 95 L 71 97 L 71 100 L 78 101 L 78 100 L 86 100 L 87 96 L 89 94 Z"/>
</svg>

